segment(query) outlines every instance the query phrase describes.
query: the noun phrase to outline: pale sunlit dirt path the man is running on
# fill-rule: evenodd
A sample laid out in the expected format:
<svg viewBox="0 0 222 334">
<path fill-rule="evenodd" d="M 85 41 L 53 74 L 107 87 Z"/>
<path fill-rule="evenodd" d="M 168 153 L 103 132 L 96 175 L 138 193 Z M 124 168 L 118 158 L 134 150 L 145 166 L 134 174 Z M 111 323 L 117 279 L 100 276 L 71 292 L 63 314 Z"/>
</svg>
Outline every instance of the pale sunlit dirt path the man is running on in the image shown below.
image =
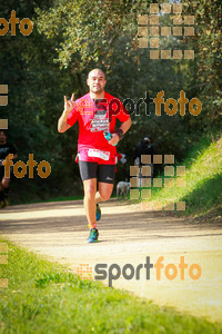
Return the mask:
<svg viewBox="0 0 222 334">
<path fill-rule="evenodd" d="M 159 305 L 222 322 L 222 222 L 212 225 L 145 213 L 139 204 L 117 199 L 101 208 L 98 244 L 85 243 L 89 232 L 79 200 L 8 207 L 0 213 L 0 234 L 50 259 L 69 264 L 73 272 L 92 268 L 93 279 L 95 275 L 102 277 L 94 266 L 104 264 L 109 284 L 114 287 Z M 150 257 L 154 265 L 161 256 L 163 267 L 158 281 L 158 269 L 151 267 L 149 277 L 144 264 Z M 179 268 L 181 256 L 188 264 L 184 279 Z M 111 267 L 112 264 L 115 265 Z M 200 274 L 193 264 L 201 267 L 199 279 L 192 278 Z M 122 274 L 119 278 L 118 266 Z M 140 274 L 139 279 L 135 274 Z"/>
</svg>

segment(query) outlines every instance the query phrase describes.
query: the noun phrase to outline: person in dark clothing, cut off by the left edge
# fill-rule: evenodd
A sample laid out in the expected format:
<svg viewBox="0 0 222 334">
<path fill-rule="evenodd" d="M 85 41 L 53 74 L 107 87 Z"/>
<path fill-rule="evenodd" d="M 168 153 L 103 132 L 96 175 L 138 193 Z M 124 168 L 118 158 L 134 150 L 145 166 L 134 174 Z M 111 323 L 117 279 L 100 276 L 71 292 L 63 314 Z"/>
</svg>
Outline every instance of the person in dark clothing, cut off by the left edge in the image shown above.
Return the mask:
<svg viewBox="0 0 222 334">
<path fill-rule="evenodd" d="M 0 207 L 4 207 L 9 204 L 9 183 L 10 178 L 4 177 L 4 166 L 2 165 L 6 157 L 12 154 L 13 159 L 18 157 L 17 150 L 13 145 L 7 143 L 7 134 L 4 130 L 0 130 Z"/>
</svg>

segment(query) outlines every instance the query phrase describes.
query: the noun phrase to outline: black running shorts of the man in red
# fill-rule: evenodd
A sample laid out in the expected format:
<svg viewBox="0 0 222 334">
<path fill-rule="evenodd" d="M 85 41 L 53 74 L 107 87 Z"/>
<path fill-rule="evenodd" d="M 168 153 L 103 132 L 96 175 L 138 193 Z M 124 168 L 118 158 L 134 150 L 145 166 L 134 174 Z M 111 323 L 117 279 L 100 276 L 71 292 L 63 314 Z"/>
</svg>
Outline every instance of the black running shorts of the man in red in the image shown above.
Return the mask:
<svg viewBox="0 0 222 334">
<path fill-rule="evenodd" d="M 100 165 L 92 161 L 79 161 L 82 180 L 97 178 L 99 183 L 113 184 L 115 165 Z"/>
</svg>

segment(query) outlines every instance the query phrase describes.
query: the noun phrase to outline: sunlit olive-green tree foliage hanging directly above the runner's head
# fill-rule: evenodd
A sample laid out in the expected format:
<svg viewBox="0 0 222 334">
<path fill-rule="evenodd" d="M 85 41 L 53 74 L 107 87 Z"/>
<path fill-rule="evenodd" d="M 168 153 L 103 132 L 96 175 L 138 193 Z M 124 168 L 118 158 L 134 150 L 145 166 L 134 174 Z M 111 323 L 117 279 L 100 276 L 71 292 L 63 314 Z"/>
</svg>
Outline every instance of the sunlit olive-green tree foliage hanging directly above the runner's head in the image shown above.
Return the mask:
<svg viewBox="0 0 222 334">
<path fill-rule="evenodd" d="M 74 62 L 81 71 L 91 60 L 111 61 L 114 43 L 132 8 L 131 0 L 61 1 L 49 11 L 37 10 L 38 29 L 48 38 L 61 37 L 58 60 L 63 67 Z"/>
</svg>

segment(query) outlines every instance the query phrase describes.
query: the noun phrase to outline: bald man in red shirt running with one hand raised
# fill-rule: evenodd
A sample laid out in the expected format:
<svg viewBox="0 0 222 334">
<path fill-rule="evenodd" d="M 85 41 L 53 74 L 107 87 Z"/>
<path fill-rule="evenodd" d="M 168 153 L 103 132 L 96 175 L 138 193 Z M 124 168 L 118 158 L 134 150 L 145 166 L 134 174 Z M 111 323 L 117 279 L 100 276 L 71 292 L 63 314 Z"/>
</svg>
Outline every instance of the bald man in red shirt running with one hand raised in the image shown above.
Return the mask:
<svg viewBox="0 0 222 334">
<path fill-rule="evenodd" d="M 115 145 L 131 126 L 131 118 L 120 100 L 104 91 L 107 84 L 102 70 L 89 72 L 90 92 L 74 101 L 64 96 L 64 110 L 58 121 L 58 131 L 64 132 L 79 121 L 78 157 L 84 187 L 84 208 L 89 223 L 89 243 L 98 242 L 97 220 L 101 217 L 98 203 L 110 198 L 115 173 Z M 122 124 L 115 130 L 115 119 Z M 105 139 L 104 132 L 112 135 Z M 97 190 L 98 181 L 98 190 Z"/>
</svg>

